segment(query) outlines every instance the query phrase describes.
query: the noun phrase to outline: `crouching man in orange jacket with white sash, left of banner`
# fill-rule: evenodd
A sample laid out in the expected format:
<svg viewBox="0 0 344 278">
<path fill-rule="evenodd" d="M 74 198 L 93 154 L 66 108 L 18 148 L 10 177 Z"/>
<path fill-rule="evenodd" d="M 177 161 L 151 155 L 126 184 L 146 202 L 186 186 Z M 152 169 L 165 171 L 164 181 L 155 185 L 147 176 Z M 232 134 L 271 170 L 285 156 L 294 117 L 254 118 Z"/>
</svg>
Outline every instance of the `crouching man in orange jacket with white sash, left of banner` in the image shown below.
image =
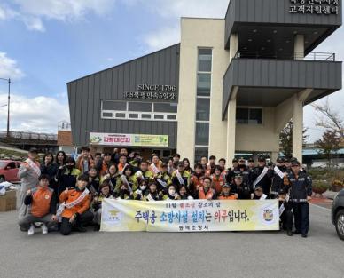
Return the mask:
<svg viewBox="0 0 344 278">
<path fill-rule="evenodd" d="M 58 215 L 62 217 L 60 232 L 68 235 L 75 228 L 79 232 L 86 232 L 85 225 L 93 220 L 93 213 L 90 209 L 90 191 L 86 188 L 89 183 L 89 176 L 79 176 L 76 187 L 66 189 L 59 196 Z"/>
</svg>

